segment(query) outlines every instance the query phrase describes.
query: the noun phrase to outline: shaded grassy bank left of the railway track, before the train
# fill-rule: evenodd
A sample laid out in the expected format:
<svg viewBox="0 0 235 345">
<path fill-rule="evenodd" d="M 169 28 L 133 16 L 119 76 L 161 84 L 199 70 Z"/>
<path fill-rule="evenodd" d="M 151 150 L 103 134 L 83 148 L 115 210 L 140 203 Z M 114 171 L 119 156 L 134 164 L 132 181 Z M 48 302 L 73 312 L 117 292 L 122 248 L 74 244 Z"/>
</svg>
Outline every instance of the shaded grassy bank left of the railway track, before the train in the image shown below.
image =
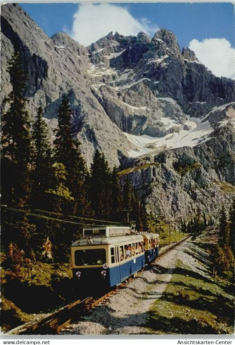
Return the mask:
<svg viewBox="0 0 235 345">
<path fill-rule="evenodd" d="M 1 269 L 1 327 L 7 332 L 30 319 L 32 314 L 47 313 L 65 303 L 72 294 L 69 280 L 51 284 L 51 275 L 66 274 L 72 277 L 71 264 L 36 262 L 28 277 L 26 267 L 20 267 L 18 275 Z"/>
</svg>

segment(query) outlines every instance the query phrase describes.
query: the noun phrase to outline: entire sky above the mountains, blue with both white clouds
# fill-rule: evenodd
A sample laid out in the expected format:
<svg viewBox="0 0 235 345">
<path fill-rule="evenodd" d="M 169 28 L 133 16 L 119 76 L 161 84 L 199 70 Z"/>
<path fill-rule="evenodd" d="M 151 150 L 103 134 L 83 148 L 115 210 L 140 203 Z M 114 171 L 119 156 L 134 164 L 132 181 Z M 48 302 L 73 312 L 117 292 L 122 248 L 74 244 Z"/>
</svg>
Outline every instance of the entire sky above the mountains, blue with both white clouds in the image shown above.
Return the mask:
<svg viewBox="0 0 235 345">
<path fill-rule="evenodd" d="M 124 35 L 145 31 L 153 36 L 158 28 L 166 28 L 176 34 L 180 48 L 190 47 L 200 61 L 216 75 L 234 75 L 235 38 L 232 3 L 20 5 L 48 36 L 66 31 L 85 46 L 110 31 L 118 31 Z M 222 63 L 226 65 L 225 70 L 221 66 Z"/>
</svg>

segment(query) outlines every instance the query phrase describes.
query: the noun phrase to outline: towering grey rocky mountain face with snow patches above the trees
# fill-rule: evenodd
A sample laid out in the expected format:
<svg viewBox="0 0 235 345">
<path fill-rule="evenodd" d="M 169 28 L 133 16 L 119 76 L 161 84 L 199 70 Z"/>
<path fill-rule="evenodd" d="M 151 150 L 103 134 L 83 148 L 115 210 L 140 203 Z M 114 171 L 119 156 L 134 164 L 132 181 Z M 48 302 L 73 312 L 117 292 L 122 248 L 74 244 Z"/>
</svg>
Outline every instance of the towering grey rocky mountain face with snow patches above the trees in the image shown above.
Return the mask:
<svg viewBox="0 0 235 345">
<path fill-rule="evenodd" d="M 129 174 L 133 184 L 150 211 L 170 217 L 213 213 L 231 197 L 234 82 L 214 76 L 189 48 L 181 51 L 171 31 L 152 39 L 110 32 L 85 48 L 65 33 L 49 38 L 18 4 L 1 7 L 1 31 L 1 100 L 18 48 L 32 118 L 41 106 L 53 138 L 68 94 L 88 167 L 95 149 L 112 166 L 140 166 Z"/>
</svg>

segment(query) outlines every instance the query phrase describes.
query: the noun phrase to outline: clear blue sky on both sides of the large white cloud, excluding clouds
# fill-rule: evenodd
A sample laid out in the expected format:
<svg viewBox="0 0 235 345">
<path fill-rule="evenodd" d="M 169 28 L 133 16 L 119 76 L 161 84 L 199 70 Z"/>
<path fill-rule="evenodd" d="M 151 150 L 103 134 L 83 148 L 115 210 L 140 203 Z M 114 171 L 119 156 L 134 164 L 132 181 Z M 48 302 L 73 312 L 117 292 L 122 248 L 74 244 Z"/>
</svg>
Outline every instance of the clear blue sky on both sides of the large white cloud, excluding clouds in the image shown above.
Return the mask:
<svg viewBox="0 0 235 345">
<path fill-rule="evenodd" d="M 73 14 L 79 4 L 44 3 L 20 4 L 49 35 L 72 29 Z M 160 28 L 173 31 L 180 47 L 192 39 L 226 38 L 234 41 L 234 6 L 232 3 L 130 3 L 118 4 L 128 8 L 137 19 L 147 18 Z"/>
</svg>

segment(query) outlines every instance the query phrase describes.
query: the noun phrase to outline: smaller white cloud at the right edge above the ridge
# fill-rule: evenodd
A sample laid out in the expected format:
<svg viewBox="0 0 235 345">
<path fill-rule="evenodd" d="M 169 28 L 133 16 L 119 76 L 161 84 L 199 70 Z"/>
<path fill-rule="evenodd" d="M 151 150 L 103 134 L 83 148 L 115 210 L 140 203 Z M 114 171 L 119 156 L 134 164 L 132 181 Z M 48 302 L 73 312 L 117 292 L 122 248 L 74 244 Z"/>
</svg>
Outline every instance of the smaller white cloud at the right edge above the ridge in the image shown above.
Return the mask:
<svg viewBox="0 0 235 345">
<path fill-rule="evenodd" d="M 194 39 L 189 48 L 216 76 L 234 79 L 235 49 L 225 38 L 206 38 L 201 42 Z"/>
</svg>

